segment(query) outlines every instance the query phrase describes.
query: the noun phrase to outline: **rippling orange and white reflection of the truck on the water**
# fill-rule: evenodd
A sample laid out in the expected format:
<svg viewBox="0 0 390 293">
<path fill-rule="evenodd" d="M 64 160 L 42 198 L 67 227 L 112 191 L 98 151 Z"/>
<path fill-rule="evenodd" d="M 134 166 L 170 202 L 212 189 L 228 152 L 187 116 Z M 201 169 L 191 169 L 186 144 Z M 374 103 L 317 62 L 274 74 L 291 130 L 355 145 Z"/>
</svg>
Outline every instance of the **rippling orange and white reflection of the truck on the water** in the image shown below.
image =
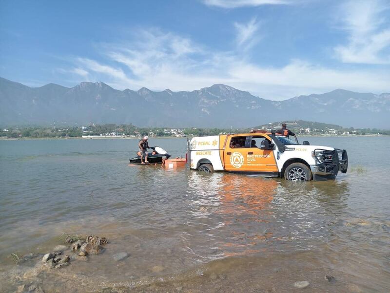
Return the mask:
<svg viewBox="0 0 390 293">
<path fill-rule="evenodd" d="M 310 250 L 347 208 L 349 183 L 289 182 L 229 173 L 188 174 L 190 207 L 206 221 L 220 257 Z M 217 219 L 217 220 L 216 220 Z M 196 222 L 196 220 L 194 220 Z"/>
</svg>

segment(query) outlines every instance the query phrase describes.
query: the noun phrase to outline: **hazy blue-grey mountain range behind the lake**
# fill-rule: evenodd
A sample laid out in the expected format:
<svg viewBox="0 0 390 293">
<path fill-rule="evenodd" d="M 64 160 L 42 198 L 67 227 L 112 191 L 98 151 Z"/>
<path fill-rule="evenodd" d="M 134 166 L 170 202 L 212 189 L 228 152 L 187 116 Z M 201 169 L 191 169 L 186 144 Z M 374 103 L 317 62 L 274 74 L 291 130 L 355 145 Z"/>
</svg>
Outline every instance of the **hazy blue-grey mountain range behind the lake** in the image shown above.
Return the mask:
<svg viewBox="0 0 390 293">
<path fill-rule="evenodd" d="M 336 89 L 324 94 L 272 101 L 224 84 L 194 91 L 138 91 L 102 82 L 74 87 L 29 87 L 0 78 L 0 125 L 250 127 L 272 121 L 309 120 L 345 127 L 389 129 L 390 93 Z"/>
</svg>

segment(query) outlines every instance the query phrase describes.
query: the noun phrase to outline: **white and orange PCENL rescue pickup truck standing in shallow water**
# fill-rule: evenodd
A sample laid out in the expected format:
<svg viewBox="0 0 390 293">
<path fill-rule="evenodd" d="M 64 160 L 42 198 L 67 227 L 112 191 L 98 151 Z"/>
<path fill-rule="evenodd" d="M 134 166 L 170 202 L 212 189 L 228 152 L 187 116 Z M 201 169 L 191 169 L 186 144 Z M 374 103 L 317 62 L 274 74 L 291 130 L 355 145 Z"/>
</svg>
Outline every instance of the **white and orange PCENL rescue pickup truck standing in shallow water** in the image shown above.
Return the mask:
<svg viewBox="0 0 390 293">
<path fill-rule="evenodd" d="M 345 149 L 299 144 L 274 131 L 194 137 L 188 140 L 187 161 L 191 169 L 229 171 L 284 177 L 287 180 L 334 179 L 347 172 Z"/>
</svg>

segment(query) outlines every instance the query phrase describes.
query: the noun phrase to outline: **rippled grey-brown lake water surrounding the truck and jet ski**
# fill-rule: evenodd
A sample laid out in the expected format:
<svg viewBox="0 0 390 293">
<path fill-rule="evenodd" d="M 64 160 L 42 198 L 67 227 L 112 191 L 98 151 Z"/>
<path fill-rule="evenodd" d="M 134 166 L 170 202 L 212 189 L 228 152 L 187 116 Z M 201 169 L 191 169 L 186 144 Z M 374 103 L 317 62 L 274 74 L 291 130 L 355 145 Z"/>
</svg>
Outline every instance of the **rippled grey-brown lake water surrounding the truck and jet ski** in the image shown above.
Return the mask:
<svg viewBox="0 0 390 293">
<path fill-rule="evenodd" d="M 300 292 L 295 281 L 308 292 L 390 292 L 390 137 L 308 140 L 346 148 L 347 174 L 201 174 L 128 166 L 132 139 L 2 140 L 0 292 Z M 149 141 L 185 155 L 185 139 Z M 60 270 L 9 256 L 50 252 L 67 234 L 109 243 Z M 117 262 L 118 252 L 129 257 Z"/>
</svg>

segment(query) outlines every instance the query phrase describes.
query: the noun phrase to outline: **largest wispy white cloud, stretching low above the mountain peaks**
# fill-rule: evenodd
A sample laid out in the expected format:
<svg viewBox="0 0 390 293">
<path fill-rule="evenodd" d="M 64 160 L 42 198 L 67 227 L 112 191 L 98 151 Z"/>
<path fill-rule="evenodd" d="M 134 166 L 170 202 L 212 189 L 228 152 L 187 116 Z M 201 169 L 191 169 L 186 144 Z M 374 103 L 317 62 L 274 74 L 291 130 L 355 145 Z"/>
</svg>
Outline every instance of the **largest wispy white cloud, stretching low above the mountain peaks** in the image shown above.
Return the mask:
<svg viewBox="0 0 390 293">
<path fill-rule="evenodd" d="M 153 90 L 179 91 L 221 83 L 273 100 L 335 88 L 389 91 L 389 69 L 333 69 L 302 60 L 266 67 L 238 53 L 213 51 L 172 33 L 148 30 L 136 35 L 137 38 L 128 43 L 100 47 L 105 59 L 99 62 L 76 58 L 76 68 L 87 70 L 96 80 L 118 89 L 137 90 L 145 86 Z"/>
</svg>

